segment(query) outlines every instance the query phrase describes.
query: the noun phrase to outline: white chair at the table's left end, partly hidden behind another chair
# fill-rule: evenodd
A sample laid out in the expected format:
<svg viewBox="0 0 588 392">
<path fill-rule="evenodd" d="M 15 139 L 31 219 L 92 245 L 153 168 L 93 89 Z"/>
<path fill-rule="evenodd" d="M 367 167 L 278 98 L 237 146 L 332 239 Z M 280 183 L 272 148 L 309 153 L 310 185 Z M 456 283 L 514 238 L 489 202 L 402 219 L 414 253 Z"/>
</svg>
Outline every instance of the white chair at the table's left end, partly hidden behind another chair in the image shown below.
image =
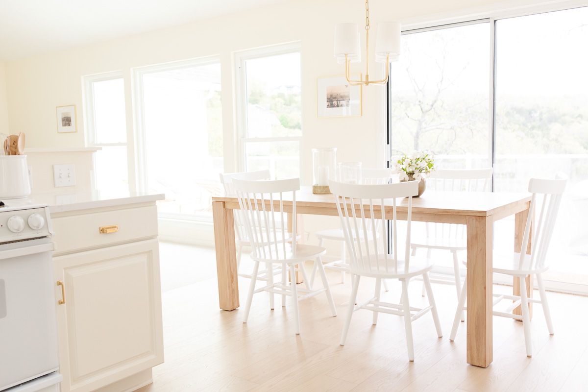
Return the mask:
<svg viewBox="0 0 588 392">
<path fill-rule="evenodd" d="M 233 185 L 233 179 L 249 181 L 269 180 L 270 173 L 269 170 L 256 170 L 255 172 L 240 173 L 220 173 L 220 183 L 222 183 L 223 187 L 225 188 L 225 195 L 227 196 L 235 196 L 235 186 Z M 243 212 L 241 210 L 233 210 L 233 218 L 233 222 L 235 222 L 235 245 L 237 247 L 237 272 L 239 276 L 251 279 L 250 273 L 240 272 L 243 247 L 251 246 L 251 242 L 243 223 L 245 217 L 243 217 Z M 278 275 L 281 273 L 281 269 L 279 266 L 275 266 L 272 272 L 274 275 Z M 266 281 L 268 280 L 267 274 L 267 270 L 261 270 L 258 272 L 257 279 Z"/>
</svg>

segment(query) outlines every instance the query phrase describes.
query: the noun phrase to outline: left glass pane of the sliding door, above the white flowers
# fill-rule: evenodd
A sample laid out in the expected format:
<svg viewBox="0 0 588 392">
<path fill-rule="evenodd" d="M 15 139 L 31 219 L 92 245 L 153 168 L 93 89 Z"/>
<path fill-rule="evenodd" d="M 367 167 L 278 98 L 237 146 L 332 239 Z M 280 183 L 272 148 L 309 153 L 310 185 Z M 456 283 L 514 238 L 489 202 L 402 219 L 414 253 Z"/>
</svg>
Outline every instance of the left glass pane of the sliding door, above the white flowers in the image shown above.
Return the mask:
<svg viewBox="0 0 588 392">
<path fill-rule="evenodd" d="M 392 153 L 432 150 L 446 168 L 490 165 L 490 23 L 402 36 L 390 73 Z"/>
</svg>

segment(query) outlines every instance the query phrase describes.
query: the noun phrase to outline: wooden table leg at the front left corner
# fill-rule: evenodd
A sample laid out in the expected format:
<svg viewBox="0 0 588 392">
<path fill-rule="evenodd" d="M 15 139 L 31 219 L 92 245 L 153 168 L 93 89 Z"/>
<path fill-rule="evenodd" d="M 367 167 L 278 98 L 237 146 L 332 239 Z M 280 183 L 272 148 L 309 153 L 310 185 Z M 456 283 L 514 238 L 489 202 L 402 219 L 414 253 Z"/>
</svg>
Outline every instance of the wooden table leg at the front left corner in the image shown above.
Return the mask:
<svg viewBox="0 0 588 392">
<path fill-rule="evenodd" d="M 212 202 L 212 219 L 215 230 L 219 307 L 223 310 L 237 309 L 239 307 L 239 283 L 233 210 L 226 209 L 224 202 Z"/>
</svg>

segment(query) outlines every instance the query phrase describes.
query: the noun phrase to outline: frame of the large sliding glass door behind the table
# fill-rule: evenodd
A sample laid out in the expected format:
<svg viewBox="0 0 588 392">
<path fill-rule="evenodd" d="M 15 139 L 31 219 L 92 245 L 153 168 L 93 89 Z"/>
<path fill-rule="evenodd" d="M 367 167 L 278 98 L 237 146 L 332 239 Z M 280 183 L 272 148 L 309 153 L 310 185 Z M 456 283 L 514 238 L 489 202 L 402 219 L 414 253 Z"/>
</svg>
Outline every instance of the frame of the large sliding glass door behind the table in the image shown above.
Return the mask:
<svg viewBox="0 0 588 392">
<path fill-rule="evenodd" d="M 513 8 L 513 9 L 506 9 L 502 11 L 495 11 L 495 12 L 481 12 L 478 14 L 472 14 L 469 16 L 460 16 L 460 17 L 449 17 L 449 18 L 440 18 L 437 21 L 425 21 L 425 22 L 416 22 L 413 24 L 408 24 L 403 26 L 403 30 L 401 32 L 402 35 L 408 35 L 412 33 L 419 33 L 419 32 L 426 32 L 426 31 L 434 31 L 434 30 L 441 30 L 446 28 L 453 28 L 457 26 L 465 26 L 465 25 L 472 25 L 472 24 L 480 24 L 489 22 L 490 26 L 490 40 L 489 40 L 489 59 L 490 59 L 490 67 L 489 67 L 489 156 L 490 156 L 490 163 L 492 167 L 495 167 L 496 164 L 496 67 L 497 67 L 497 58 L 496 58 L 496 44 L 497 44 L 497 33 L 496 33 L 496 22 L 503 20 L 503 19 L 510 19 L 510 18 L 519 18 L 523 16 L 530 16 L 530 15 L 538 15 L 538 14 L 547 14 L 550 12 L 557 12 L 557 11 L 566 11 L 569 9 L 574 8 L 583 8 L 588 6 L 588 1 L 562 1 L 559 4 L 549 4 L 549 5 L 535 5 L 529 6 L 526 8 Z M 389 65 L 390 66 L 390 65 Z M 386 141 L 386 153 L 387 156 L 385 157 L 385 165 L 387 167 L 390 166 L 390 153 L 392 152 L 392 132 L 393 132 L 393 125 L 391 120 L 391 113 L 390 113 L 390 99 L 391 99 L 391 92 L 392 92 L 392 78 L 389 78 L 386 83 L 386 93 L 383 98 L 383 102 L 386 105 L 383 113 L 385 115 L 385 122 L 384 122 L 384 140 Z M 492 175 L 492 192 L 495 192 L 495 175 Z M 453 270 L 449 267 L 441 267 L 437 266 L 436 271 L 439 273 L 447 274 L 448 276 L 453 276 Z M 495 283 L 500 284 L 512 284 L 512 280 L 506 279 L 505 276 L 501 276 L 500 274 L 495 274 L 494 277 Z M 554 290 L 557 292 L 566 292 L 572 294 L 581 294 L 587 295 L 588 294 L 588 284 L 579 284 L 574 282 L 562 282 L 559 280 L 549 280 L 544 279 L 545 286 L 548 290 Z"/>
</svg>

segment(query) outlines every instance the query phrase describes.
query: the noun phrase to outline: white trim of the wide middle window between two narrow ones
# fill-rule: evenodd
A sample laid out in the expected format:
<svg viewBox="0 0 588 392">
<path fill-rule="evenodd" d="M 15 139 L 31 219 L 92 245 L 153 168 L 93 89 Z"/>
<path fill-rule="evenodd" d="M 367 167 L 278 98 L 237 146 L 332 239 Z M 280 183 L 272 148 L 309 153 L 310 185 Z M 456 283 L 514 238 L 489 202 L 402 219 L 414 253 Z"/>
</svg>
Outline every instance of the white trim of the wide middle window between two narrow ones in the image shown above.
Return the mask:
<svg viewBox="0 0 588 392">
<path fill-rule="evenodd" d="M 187 59 L 161 63 L 156 65 L 142 66 L 131 69 L 133 89 L 133 119 L 135 121 L 135 178 L 136 190 L 147 192 L 147 156 L 146 156 L 146 133 L 145 133 L 145 102 L 143 102 L 143 76 L 148 73 L 170 71 L 173 69 L 188 68 L 190 66 L 203 66 L 209 64 L 220 64 L 219 56 L 207 56 L 201 58 Z M 177 214 L 185 219 L 185 216 Z"/>
</svg>

